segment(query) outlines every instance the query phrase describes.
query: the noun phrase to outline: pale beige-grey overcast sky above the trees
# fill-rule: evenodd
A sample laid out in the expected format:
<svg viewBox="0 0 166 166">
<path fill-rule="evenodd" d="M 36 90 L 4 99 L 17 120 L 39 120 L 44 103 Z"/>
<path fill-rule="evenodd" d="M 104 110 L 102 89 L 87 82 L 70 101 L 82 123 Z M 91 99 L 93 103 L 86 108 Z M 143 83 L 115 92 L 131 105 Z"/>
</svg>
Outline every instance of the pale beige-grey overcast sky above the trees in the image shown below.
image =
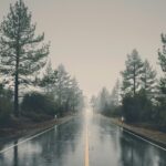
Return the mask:
<svg viewBox="0 0 166 166">
<path fill-rule="evenodd" d="M 0 21 L 15 0 L 0 0 Z M 85 95 L 111 90 L 126 54 L 137 49 L 155 69 L 160 33 L 166 33 L 165 0 L 25 0 L 38 32 L 51 41 L 53 68 L 63 63 Z M 159 71 L 158 71 L 159 72 Z"/>
</svg>

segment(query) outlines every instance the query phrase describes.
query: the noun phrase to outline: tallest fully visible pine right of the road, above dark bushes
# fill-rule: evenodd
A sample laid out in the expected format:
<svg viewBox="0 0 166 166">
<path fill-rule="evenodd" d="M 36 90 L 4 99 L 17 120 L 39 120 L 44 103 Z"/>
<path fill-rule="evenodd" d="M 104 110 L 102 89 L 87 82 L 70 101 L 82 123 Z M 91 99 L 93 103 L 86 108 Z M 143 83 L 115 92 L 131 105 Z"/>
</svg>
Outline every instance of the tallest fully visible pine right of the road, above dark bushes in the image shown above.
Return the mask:
<svg viewBox="0 0 166 166">
<path fill-rule="evenodd" d="M 131 54 L 127 55 L 125 62 L 126 69 L 122 72 L 123 76 L 123 87 L 124 93 L 132 93 L 134 96 L 136 91 L 141 86 L 141 74 L 143 73 L 143 62 L 136 50 L 133 50 Z"/>
</svg>

